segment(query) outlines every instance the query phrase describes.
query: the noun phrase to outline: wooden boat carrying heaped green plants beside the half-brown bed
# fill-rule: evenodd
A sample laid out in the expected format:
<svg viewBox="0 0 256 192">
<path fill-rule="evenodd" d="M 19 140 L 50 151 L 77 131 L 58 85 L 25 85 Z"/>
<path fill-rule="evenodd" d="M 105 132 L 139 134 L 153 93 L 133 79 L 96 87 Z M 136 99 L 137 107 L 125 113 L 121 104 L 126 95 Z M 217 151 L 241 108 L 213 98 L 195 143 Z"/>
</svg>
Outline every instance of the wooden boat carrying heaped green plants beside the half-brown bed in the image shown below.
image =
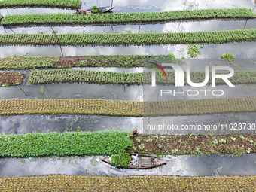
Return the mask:
<svg viewBox="0 0 256 192">
<path fill-rule="evenodd" d="M 134 156 L 136 154 L 133 154 Z M 132 156 L 132 155 L 131 155 Z M 150 168 L 154 168 L 157 166 L 163 166 L 164 164 L 168 163 L 169 160 L 162 160 L 160 159 L 160 157 L 154 156 L 154 155 L 147 155 L 147 154 L 139 154 L 139 161 L 136 162 L 135 165 L 132 165 L 130 163 L 129 166 L 125 166 L 125 167 L 117 167 L 117 168 L 125 168 L 125 169 L 150 169 Z M 105 163 L 110 164 L 111 166 L 113 166 L 110 163 L 111 157 L 106 157 L 105 159 L 103 159 L 102 161 Z M 131 161 L 132 161 L 132 157 L 131 157 Z"/>
</svg>

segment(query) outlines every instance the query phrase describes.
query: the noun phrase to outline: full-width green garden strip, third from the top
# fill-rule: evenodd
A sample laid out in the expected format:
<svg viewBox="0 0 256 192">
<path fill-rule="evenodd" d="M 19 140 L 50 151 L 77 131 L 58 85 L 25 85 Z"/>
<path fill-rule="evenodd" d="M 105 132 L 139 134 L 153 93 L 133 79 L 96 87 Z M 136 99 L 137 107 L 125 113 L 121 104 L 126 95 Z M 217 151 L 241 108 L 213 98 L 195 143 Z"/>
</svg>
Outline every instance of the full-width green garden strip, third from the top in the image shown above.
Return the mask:
<svg viewBox="0 0 256 192">
<path fill-rule="evenodd" d="M 212 32 L 145 32 L 83 33 L 63 35 L 11 34 L 0 35 L 1 45 L 152 45 L 152 44 L 223 44 L 256 41 L 256 29 Z"/>
</svg>

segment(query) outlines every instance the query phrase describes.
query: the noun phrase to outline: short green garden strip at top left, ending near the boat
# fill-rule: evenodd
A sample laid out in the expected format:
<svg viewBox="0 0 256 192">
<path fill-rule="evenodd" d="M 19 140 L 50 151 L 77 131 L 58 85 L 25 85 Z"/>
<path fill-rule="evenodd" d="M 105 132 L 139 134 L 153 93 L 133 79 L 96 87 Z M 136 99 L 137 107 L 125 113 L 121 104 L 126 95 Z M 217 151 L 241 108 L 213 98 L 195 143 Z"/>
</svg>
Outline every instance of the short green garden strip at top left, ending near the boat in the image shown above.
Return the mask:
<svg viewBox="0 0 256 192">
<path fill-rule="evenodd" d="M 81 8 L 81 0 L 2 0 L 0 8 Z"/>
</svg>

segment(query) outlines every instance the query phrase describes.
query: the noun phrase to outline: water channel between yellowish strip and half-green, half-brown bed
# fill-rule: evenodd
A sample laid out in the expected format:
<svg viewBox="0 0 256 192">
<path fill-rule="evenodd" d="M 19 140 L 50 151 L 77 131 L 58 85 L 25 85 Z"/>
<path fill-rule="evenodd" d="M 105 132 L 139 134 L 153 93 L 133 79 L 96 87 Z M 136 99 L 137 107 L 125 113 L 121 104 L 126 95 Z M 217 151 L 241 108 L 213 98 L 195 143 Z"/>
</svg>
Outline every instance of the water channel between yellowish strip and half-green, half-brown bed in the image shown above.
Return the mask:
<svg viewBox="0 0 256 192">
<path fill-rule="evenodd" d="M 14 115 L 0 116 L 0 133 L 25 134 L 25 133 L 50 133 L 65 131 L 100 131 L 121 130 L 139 133 L 153 134 L 229 134 L 229 133 L 255 133 L 255 129 L 219 129 L 219 130 L 147 130 L 145 124 L 156 124 L 169 122 L 181 127 L 181 125 L 195 124 L 229 124 L 229 123 L 255 123 L 256 113 L 236 114 L 204 114 L 194 116 L 175 117 L 107 117 L 94 115 Z"/>
</svg>

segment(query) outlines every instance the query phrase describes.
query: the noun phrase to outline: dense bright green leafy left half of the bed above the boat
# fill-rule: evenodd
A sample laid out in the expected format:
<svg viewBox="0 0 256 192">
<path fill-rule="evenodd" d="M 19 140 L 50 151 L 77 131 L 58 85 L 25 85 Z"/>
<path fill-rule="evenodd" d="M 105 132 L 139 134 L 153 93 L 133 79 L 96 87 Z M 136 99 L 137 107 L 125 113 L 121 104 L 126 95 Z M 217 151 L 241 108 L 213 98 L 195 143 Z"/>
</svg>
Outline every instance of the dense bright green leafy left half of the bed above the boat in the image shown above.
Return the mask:
<svg viewBox="0 0 256 192">
<path fill-rule="evenodd" d="M 124 153 L 133 145 L 120 131 L 0 134 L 1 157 L 96 155 Z"/>
</svg>

